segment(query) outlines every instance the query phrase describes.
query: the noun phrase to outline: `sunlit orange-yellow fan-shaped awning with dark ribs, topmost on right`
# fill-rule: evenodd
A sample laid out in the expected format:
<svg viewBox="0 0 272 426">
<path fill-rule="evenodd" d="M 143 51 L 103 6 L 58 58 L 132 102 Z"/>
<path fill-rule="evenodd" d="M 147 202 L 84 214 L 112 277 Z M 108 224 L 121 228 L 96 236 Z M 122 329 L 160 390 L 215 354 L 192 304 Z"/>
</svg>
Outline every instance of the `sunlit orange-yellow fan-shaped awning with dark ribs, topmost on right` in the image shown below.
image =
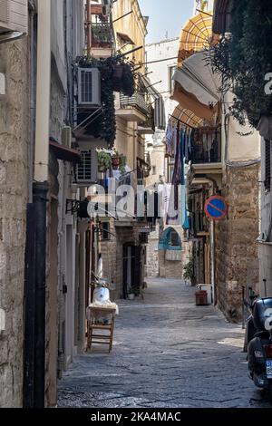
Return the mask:
<svg viewBox="0 0 272 426">
<path fill-rule="evenodd" d="M 179 66 L 193 53 L 200 52 L 213 43 L 216 41 L 212 34 L 212 12 L 201 12 L 190 18 L 180 34 Z"/>
</svg>

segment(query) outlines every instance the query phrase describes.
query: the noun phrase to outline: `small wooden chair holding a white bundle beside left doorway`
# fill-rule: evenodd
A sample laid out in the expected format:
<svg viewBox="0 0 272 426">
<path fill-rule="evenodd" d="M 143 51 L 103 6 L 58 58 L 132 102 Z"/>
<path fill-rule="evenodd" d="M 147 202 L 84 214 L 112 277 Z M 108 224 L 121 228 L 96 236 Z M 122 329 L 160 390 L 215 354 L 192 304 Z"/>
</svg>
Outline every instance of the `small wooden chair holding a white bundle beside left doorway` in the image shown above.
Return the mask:
<svg viewBox="0 0 272 426">
<path fill-rule="evenodd" d="M 100 324 L 98 319 L 107 319 L 108 324 Z M 109 353 L 112 351 L 115 309 L 106 307 L 90 307 L 88 318 L 87 350 L 92 350 L 92 344 L 108 344 Z M 103 333 L 102 333 L 103 332 Z"/>
</svg>

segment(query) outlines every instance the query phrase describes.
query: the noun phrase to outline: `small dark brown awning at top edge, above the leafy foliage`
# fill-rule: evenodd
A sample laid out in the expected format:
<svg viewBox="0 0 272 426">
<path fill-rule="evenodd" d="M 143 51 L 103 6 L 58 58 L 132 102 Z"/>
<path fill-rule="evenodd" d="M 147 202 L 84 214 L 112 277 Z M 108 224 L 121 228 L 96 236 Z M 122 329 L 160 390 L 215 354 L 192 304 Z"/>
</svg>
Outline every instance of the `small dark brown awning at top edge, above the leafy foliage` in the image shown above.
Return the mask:
<svg viewBox="0 0 272 426">
<path fill-rule="evenodd" d="M 233 0 L 214 0 L 212 31 L 214 34 L 229 32 Z"/>
</svg>

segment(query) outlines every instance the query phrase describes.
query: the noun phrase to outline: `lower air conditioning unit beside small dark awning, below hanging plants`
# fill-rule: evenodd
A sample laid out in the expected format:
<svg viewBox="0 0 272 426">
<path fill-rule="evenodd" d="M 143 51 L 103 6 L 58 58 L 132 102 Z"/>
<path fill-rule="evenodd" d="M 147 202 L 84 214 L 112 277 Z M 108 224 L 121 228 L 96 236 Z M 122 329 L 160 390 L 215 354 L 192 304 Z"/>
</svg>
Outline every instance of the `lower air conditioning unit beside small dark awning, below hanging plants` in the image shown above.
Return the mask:
<svg viewBox="0 0 272 426">
<path fill-rule="evenodd" d="M 97 181 L 97 153 L 95 150 L 81 150 L 82 162 L 76 166 L 75 184 L 88 186 Z"/>
</svg>

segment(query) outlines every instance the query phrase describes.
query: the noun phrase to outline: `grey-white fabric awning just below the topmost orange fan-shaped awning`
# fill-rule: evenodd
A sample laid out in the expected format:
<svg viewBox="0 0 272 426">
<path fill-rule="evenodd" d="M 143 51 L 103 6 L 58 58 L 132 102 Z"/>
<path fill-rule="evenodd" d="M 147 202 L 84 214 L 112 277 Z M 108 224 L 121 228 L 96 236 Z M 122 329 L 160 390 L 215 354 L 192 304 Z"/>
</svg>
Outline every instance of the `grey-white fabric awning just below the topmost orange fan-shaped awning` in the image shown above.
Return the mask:
<svg viewBox="0 0 272 426">
<path fill-rule="evenodd" d="M 214 106 L 220 101 L 220 77 L 212 72 L 206 52 L 195 53 L 186 59 L 174 73 L 173 80 L 204 105 Z"/>
</svg>

